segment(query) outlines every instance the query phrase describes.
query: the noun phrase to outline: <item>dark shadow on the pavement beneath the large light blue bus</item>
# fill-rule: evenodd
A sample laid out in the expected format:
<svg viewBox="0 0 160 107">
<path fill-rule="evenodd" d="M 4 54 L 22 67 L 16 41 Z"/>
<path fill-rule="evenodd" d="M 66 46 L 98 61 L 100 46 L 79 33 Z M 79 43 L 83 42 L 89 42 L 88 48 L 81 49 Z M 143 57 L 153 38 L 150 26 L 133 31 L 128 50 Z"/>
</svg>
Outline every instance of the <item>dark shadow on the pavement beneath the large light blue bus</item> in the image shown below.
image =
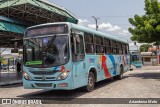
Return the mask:
<svg viewBox="0 0 160 107">
<path fill-rule="evenodd" d="M 114 81 L 112 78 L 98 82 L 95 86 L 95 90 L 101 87 L 104 87 L 108 84 L 111 84 L 113 82 L 116 82 L 116 81 Z M 29 93 L 29 94 L 20 95 L 17 97 L 19 98 L 71 98 L 71 99 L 75 99 L 87 93 L 88 92 L 83 91 L 83 88 L 78 88 L 75 90 L 41 90 L 41 91 Z"/>
</svg>

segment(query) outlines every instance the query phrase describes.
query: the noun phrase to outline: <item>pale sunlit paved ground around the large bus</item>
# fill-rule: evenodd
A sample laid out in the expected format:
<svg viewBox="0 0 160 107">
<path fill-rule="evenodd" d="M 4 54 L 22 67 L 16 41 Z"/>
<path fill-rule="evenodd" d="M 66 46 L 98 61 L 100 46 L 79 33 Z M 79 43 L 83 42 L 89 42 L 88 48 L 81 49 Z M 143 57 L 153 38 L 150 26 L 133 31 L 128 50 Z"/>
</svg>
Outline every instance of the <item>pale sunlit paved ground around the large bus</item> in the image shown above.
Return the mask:
<svg viewBox="0 0 160 107">
<path fill-rule="evenodd" d="M 124 79 L 108 79 L 96 84 L 93 92 L 81 89 L 73 91 L 29 90 L 21 85 L 0 88 L 1 98 L 160 98 L 160 66 L 147 66 L 124 74 Z M 22 105 L 19 105 L 22 106 Z M 44 105 L 42 105 L 44 106 Z M 51 105 L 50 105 L 51 106 Z M 63 106 L 63 105 L 57 105 Z M 69 105 L 68 105 L 69 106 Z M 78 106 L 78 105 L 77 105 Z M 93 105 L 87 105 L 93 106 Z M 105 105 L 102 105 L 105 106 Z M 112 105 L 116 106 L 116 105 Z M 123 105 L 119 105 L 122 106 Z M 134 105 L 125 105 L 133 106 Z M 142 105 L 141 105 L 142 106 Z M 144 105 L 143 105 L 144 106 Z M 150 107 L 151 105 L 145 105 Z M 160 105 L 154 105 L 160 107 Z"/>
</svg>

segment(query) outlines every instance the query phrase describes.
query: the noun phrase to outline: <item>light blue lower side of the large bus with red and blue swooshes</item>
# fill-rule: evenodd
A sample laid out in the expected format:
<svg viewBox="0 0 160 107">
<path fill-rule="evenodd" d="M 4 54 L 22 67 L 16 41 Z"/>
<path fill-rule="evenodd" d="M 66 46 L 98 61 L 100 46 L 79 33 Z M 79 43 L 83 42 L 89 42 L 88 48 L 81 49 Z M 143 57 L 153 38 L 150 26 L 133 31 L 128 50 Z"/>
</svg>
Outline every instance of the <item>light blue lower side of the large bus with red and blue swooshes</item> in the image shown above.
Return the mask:
<svg viewBox="0 0 160 107">
<path fill-rule="evenodd" d="M 86 55 L 84 61 L 73 63 L 74 88 L 87 85 L 89 71 L 94 68 L 97 82 L 120 75 L 120 66 L 124 72 L 129 68 L 127 55 Z"/>
</svg>

